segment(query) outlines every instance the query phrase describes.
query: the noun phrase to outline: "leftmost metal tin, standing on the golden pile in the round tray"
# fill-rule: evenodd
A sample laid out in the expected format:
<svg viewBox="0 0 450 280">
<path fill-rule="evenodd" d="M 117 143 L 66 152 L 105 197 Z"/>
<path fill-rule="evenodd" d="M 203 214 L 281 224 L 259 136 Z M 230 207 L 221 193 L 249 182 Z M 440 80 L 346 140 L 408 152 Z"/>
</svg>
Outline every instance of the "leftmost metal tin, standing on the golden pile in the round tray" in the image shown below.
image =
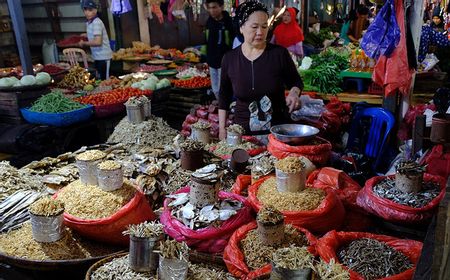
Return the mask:
<svg viewBox="0 0 450 280">
<path fill-rule="evenodd" d="M 55 216 L 39 216 L 30 213 L 31 230 L 33 239 L 37 242 L 55 242 L 63 235 L 63 212 Z"/>
</svg>

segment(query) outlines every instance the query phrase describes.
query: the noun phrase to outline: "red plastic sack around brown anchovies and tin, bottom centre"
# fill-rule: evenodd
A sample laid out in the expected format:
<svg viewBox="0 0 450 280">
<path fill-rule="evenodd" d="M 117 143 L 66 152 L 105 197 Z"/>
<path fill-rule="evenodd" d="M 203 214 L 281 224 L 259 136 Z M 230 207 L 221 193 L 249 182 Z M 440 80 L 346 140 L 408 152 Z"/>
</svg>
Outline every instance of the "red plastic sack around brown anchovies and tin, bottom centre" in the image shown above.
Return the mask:
<svg viewBox="0 0 450 280">
<path fill-rule="evenodd" d="M 257 223 L 255 221 L 246 224 L 236 230 L 230 238 L 227 247 L 225 247 L 225 251 L 223 252 L 223 260 L 227 265 L 228 271 L 233 274 L 235 277 L 239 277 L 241 279 L 258 279 L 261 276 L 269 276 L 272 271 L 272 265 L 267 264 L 260 269 L 251 271 L 250 268 L 245 264 L 245 257 L 239 247 L 239 243 L 242 239 L 247 236 L 247 233 L 255 228 L 257 228 Z M 309 252 L 315 255 L 314 245 L 317 242 L 317 239 L 314 235 L 312 235 L 308 230 L 294 226 L 299 231 L 303 232 L 306 235 L 306 239 L 309 241 Z"/>
</svg>

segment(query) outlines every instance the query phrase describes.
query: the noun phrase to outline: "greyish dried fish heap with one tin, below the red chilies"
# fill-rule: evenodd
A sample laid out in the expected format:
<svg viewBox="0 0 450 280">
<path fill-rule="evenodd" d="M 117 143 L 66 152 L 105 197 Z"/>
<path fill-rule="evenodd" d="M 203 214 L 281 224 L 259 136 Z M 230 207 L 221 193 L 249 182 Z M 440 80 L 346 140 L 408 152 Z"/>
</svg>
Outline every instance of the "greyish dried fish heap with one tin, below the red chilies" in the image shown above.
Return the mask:
<svg viewBox="0 0 450 280">
<path fill-rule="evenodd" d="M 164 148 L 170 144 L 178 131 L 163 119 L 151 116 L 139 124 L 130 124 L 122 119 L 108 138 L 108 143 L 122 143 L 128 150 L 137 152 L 143 147 Z"/>
</svg>

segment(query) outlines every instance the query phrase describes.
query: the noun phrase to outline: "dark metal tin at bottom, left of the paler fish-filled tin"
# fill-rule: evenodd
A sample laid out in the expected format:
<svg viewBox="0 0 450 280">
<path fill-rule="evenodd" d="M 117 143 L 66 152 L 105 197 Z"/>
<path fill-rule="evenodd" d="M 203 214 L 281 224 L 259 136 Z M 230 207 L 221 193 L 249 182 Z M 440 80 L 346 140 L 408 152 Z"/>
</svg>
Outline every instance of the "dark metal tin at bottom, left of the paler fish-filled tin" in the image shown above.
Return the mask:
<svg viewBox="0 0 450 280">
<path fill-rule="evenodd" d="M 157 238 L 130 236 L 130 254 L 128 257 L 130 268 L 136 272 L 156 271 L 159 255 L 153 253 L 153 250 L 156 243 L 162 239 L 163 236 Z"/>
</svg>

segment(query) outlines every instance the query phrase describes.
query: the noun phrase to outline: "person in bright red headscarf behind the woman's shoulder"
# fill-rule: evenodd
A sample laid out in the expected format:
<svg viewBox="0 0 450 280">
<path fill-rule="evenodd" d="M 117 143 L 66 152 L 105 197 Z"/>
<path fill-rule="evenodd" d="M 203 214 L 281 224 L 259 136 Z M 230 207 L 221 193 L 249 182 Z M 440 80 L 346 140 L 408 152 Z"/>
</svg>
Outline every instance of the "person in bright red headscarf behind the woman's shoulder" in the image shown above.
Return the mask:
<svg viewBox="0 0 450 280">
<path fill-rule="evenodd" d="M 297 23 L 294 8 L 287 8 L 281 23 L 275 27 L 271 43 L 283 46 L 298 57 L 303 57 L 303 30 Z"/>
</svg>

